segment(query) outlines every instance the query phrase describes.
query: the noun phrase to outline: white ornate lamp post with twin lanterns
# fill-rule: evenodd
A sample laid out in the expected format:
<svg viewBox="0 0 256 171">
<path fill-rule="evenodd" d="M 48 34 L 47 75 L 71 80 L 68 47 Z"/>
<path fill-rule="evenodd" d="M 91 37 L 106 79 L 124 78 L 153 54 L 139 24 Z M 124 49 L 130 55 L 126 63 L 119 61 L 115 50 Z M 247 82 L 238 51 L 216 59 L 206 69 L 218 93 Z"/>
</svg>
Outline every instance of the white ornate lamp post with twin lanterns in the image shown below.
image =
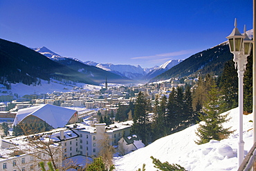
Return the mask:
<svg viewBox="0 0 256 171">
<path fill-rule="evenodd" d="M 237 19 L 235 19 L 235 28 L 227 37 L 230 52 L 234 54 L 233 61 L 238 74 L 238 107 L 239 107 L 239 141 L 238 141 L 238 167 L 244 160 L 244 141 L 243 141 L 243 113 L 244 113 L 244 90 L 243 79 L 244 70 L 246 70 L 247 57 L 250 55 L 251 45 L 253 43 L 246 34 L 246 27 L 244 27 L 244 35 L 241 34 L 237 28 Z"/>
</svg>

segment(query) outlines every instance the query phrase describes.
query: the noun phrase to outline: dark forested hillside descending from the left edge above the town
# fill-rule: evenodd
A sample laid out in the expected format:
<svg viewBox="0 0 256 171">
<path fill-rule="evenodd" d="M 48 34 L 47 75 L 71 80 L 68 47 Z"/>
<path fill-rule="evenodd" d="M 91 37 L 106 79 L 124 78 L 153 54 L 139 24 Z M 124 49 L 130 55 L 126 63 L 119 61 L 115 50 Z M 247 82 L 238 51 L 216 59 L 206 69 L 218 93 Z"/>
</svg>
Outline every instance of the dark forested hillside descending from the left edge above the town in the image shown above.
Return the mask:
<svg viewBox="0 0 256 171">
<path fill-rule="evenodd" d="M 100 70 L 100 69 L 99 69 Z M 42 54 L 31 50 L 19 43 L 0 39 L 0 81 L 1 83 L 38 83 L 39 79 L 65 79 L 98 85 L 105 81 L 108 73 L 104 70 L 93 73 L 90 66 L 87 73 L 77 72 L 62 63 L 48 59 Z M 94 74 L 97 77 L 94 77 Z M 112 76 L 112 73 L 110 73 Z M 113 76 L 112 76 L 113 79 Z M 119 79 L 119 80 L 118 80 Z M 127 79 L 117 77 L 116 81 L 125 82 Z"/>
</svg>

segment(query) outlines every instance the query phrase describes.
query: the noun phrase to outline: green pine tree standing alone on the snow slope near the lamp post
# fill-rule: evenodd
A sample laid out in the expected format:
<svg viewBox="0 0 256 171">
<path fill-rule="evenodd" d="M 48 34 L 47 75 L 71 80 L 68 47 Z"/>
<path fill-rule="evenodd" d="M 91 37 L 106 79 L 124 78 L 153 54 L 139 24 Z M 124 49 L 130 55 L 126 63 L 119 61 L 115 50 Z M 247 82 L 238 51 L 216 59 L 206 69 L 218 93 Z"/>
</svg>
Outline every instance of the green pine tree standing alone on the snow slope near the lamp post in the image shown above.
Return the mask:
<svg viewBox="0 0 256 171">
<path fill-rule="evenodd" d="M 208 92 L 208 101 L 203 105 L 203 112 L 200 114 L 199 128 L 196 130 L 196 135 L 199 140 L 195 141 L 197 144 L 208 143 L 211 139 L 220 141 L 228 137 L 230 128 L 223 128 L 223 123 L 227 122 L 228 114 L 221 114 L 220 112 L 220 101 L 218 96 L 218 89 L 215 83 Z"/>
</svg>

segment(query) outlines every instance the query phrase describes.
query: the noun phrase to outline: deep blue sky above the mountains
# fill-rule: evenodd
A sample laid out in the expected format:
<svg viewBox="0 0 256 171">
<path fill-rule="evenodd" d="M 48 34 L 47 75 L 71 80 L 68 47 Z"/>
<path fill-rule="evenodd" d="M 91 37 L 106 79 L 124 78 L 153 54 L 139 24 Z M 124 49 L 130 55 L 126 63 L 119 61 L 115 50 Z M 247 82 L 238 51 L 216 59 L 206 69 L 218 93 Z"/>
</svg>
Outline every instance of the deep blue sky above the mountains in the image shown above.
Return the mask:
<svg viewBox="0 0 256 171">
<path fill-rule="evenodd" d="M 0 38 L 63 57 L 160 66 L 253 28 L 252 0 L 0 0 Z"/>
</svg>

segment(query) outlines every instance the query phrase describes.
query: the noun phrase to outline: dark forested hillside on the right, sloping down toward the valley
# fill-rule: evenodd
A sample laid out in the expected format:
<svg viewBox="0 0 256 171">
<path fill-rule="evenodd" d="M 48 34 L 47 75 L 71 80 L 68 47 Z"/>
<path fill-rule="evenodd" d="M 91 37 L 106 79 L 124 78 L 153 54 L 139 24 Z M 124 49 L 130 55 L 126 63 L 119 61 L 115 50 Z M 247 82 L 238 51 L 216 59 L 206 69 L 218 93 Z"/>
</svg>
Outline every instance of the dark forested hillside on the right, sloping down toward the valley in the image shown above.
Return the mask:
<svg viewBox="0 0 256 171">
<path fill-rule="evenodd" d="M 232 54 L 228 45 L 222 43 L 219 46 L 192 55 L 170 70 L 154 77 L 149 82 L 190 75 L 194 76 L 199 72 L 202 76 L 205 74 L 219 75 L 223 71 L 224 63 L 230 59 L 232 59 Z"/>
</svg>

